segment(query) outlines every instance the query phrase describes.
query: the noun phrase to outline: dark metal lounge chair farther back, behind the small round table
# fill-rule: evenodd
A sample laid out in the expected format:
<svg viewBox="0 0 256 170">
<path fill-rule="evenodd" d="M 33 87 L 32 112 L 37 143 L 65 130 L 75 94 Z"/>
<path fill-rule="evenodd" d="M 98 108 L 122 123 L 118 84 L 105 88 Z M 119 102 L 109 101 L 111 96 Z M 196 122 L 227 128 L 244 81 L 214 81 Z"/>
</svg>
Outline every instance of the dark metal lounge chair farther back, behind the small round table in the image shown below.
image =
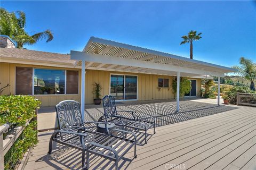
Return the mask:
<svg viewBox="0 0 256 170">
<path fill-rule="evenodd" d="M 103 109 L 104 115 L 100 117 L 101 121 L 113 122 L 116 125 L 122 126 L 122 129 L 127 130 L 127 128 L 132 128 L 135 130 L 145 131 L 145 143 L 147 143 L 147 130 L 149 128 L 154 128 L 156 120 L 154 117 L 150 116 L 136 116 L 135 111 L 117 111 L 115 98 L 113 96 L 107 95 L 103 97 Z M 123 116 L 118 114 L 118 112 L 130 113 L 130 116 Z M 151 120 L 151 121 L 150 121 Z"/>
</svg>

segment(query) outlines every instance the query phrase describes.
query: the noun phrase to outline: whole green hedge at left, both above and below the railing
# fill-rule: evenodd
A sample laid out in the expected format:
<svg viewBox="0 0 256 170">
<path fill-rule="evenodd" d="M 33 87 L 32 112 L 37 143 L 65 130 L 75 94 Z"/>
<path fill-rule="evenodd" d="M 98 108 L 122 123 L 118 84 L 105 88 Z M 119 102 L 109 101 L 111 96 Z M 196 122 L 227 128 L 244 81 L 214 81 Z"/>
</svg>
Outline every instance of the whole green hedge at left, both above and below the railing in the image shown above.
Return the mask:
<svg viewBox="0 0 256 170">
<path fill-rule="evenodd" d="M 15 126 L 25 127 L 19 138 L 5 154 L 4 169 L 15 169 L 23 154 L 38 142 L 37 130 L 35 130 L 37 122 L 30 120 L 36 116 L 35 108 L 40 104 L 41 102 L 33 96 L 0 96 L 0 125 L 9 123 L 10 128 Z M 26 126 L 28 121 L 30 122 Z"/>
</svg>

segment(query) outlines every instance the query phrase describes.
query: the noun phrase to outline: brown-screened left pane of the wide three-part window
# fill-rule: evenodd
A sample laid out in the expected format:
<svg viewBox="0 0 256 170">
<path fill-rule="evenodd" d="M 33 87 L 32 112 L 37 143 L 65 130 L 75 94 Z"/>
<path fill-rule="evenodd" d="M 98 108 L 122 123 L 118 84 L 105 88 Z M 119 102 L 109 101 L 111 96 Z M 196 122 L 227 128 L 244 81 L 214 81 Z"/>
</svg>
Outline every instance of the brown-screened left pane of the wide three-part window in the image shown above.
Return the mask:
<svg viewBox="0 0 256 170">
<path fill-rule="evenodd" d="M 16 95 L 32 95 L 33 68 L 16 67 Z"/>
</svg>

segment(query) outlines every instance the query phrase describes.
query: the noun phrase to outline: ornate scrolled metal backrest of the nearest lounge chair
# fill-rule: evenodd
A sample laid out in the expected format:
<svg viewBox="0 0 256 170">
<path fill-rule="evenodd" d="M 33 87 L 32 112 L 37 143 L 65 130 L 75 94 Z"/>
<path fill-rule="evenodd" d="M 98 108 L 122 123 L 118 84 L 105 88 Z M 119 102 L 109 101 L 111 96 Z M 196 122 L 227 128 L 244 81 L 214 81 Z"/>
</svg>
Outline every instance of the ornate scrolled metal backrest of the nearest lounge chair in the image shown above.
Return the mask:
<svg viewBox="0 0 256 170">
<path fill-rule="evenodd" d="M 55 106 L 59 129 L 75 131 L 84 126 L 80 104 L 75 100 L 63 100 Z"/>
</svg>

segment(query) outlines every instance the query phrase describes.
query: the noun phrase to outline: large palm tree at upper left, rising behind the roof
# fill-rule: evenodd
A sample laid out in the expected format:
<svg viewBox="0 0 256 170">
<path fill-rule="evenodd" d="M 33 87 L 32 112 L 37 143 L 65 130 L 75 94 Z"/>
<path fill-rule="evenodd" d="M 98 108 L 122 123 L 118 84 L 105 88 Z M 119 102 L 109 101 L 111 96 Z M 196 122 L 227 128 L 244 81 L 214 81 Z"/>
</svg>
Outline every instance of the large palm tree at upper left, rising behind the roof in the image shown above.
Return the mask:
<svg viewBox="0 0 256 170">
<path fill-rule="evenodd" d="M 23 45 L 33 45 L 42 39 L 46 39 L 46 43 L 53 39 L 51 30 L 38 32 L 32 36 L 28 35 L 25 31 L 26 14 L 22 11 L 8 12 L 1 8 L 0 16 L 1 35 L 9 36 L 16 41 L 17 48 L 23 48 Z"/>
</svg>

